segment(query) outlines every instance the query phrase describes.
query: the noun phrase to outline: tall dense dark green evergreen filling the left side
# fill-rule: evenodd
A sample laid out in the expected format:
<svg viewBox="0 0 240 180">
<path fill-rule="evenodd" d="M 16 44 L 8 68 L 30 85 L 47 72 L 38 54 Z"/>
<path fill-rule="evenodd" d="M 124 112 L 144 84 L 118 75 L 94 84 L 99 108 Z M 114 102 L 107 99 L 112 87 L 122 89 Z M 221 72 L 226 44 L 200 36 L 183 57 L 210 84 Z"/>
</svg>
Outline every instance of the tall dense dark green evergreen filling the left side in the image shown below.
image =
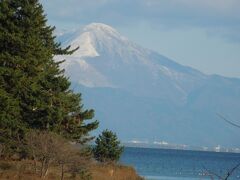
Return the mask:
<svg viewBox="0 0 240 180">
<path fill-rule="evenodd" d="M 21 139 L 35 128 L 83 143 L 98 122 L 85 122 L 94 111 L 83 109 L 59 68 L 63 61 L 53 60 L 74 52 L 62 49 L 53 31 L 38 0 L 0 1 L 0 133 L 14 138 L 14 131 Z"/>
</svg>

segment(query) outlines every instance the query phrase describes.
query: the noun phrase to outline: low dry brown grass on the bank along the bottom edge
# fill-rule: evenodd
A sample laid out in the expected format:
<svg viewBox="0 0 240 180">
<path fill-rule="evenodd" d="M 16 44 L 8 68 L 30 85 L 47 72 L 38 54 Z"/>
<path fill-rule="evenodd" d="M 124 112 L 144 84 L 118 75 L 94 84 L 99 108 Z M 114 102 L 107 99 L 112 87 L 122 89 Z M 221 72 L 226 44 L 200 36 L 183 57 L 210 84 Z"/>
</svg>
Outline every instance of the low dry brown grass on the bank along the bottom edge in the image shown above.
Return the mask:
<svg viewBox="0 0 240 180">
<path fill-rule="evenodd" d="M 141 180 L 132 167 L 124 165 L 103 165 L 92 162 L 88 166 L 89 174 L 93 180 Z M 32 161 L 0 161 L 0 179 L 5 180 L 40 180 L 40 175 L 34 172 Z M 45 180 L 61 179 L 61 170 L 58 167 L 49 169 Z M 84 179 L 80 175 L 73 177 L 70 173 L 65 172 L 64 179 Z"/>
</svg>

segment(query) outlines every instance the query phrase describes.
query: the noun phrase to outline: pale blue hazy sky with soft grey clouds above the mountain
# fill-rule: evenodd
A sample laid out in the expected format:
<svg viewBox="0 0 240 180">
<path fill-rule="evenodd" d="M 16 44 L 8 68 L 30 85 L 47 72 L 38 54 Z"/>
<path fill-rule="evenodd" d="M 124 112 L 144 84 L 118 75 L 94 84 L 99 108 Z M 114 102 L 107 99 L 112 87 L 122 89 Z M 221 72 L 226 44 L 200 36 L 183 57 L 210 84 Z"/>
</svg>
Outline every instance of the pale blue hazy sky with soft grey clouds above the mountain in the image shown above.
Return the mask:
<svg viewBox="0 0 240 180">
<path fill-rule="evenodd" d="M 207 74 L 240 78 L 240 0 L 40 0 L 58 30 L 108 24 Z"/>
</svg>

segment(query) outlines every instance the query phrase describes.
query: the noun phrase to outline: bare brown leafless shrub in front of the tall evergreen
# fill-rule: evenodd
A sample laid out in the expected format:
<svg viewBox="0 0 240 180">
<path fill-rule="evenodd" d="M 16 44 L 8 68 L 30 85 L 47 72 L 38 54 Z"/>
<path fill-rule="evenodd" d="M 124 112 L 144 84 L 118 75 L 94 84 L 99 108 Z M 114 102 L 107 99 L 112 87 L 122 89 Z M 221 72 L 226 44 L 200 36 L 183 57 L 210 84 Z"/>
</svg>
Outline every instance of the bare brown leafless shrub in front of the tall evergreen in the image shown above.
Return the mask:
<svg viewBox="0 0 240 180">
<path fill-rule="evenodd" d="M 35 173 L 45 178 L 51 165 L 61 167 L 61 179 L 66 172 L 72 175 L 81 175 L 87 172 L 89 162 L 83 148 L 75 148 L 69 141 L 48 131 L 30 131 L 26 136 L 27 149 L 34 159 Z M 40 168 L 37 164 L 40 162 Z"/>
</svg>

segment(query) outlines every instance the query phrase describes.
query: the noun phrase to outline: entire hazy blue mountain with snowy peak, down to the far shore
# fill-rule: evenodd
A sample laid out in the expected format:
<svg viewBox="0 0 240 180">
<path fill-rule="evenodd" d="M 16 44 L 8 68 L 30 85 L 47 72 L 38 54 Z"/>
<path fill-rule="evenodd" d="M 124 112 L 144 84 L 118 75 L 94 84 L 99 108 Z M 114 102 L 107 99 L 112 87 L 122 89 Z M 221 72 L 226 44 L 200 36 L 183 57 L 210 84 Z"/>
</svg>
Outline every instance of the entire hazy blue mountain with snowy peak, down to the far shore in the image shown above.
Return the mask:
<svg viewBox="0 0 240 180">
<path fill-rule="evenodd" d="M 96 109 L 102 127 L 122 140 L 240 145 L 240 130 L 216 116 L 240 117 L 240 80 L 177 64 L 105 24 L 93 23 L 59 39 L 64 46 L 79 47 L 71 56 L 56 57 L 66 59 L 62 68 L 73 88 Z"/>
</svg>

